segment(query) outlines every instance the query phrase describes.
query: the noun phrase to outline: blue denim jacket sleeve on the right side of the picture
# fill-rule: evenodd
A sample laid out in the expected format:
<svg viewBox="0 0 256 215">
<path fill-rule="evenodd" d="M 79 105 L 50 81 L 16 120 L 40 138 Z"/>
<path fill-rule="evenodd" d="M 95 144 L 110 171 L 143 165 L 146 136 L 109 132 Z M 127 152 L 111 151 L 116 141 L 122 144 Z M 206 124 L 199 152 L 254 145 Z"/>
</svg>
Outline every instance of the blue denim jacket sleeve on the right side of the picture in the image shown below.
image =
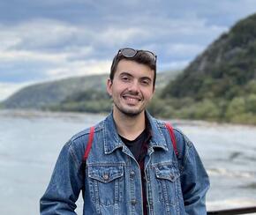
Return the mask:
<svg viewBox="0 0 256 215">
<path fill-rule="evenodd" d="M 207 171 L 192 142 L 185 136 L 179 136 L 180 142 L 183 143 L 183 149 L 178 149 L 182 153 L 177 159 L 185 211 L 189 215 L 207 214 L 206 194 L 210 186 Z"/>
</svg>

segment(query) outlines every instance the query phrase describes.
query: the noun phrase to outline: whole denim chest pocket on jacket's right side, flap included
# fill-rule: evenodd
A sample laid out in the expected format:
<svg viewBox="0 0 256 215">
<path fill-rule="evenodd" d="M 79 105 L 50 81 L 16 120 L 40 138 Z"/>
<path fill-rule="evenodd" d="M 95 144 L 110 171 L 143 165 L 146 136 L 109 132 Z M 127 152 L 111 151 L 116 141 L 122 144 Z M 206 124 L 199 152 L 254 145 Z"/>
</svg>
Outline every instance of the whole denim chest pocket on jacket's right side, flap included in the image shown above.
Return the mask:
<svg viewBox="0 0 256 215">
<path fill-rule="evenodd" d="M 173 206 L 182 201 L 180 173 L 176 166 L 163 164 L 154 167 L 158 196 L 162 204 Z"/>
</svg>

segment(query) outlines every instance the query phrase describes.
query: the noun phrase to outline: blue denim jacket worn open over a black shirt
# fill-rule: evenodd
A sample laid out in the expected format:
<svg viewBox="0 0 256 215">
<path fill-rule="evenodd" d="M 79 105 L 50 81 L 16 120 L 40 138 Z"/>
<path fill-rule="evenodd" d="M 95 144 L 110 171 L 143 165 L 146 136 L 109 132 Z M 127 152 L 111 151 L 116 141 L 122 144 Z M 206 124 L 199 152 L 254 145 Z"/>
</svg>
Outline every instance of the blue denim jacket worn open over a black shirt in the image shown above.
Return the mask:
<svg viewBox="0 0 256 215">
<path fill-rule="evenodd" d="M 207 172 L 192 142 L 175 129 L 178 156 L 164 122 L 147 113 L 152 127 L 145 159 L 148 214 L 207 214 Z M 41 197 L 41 215 L 76 214 L 84 187 L 83 214 L 143 214 L 139 164 L 117 134 L 113 115 L 98 123 L 85 171 L 80 171 L 89 130 L 64 145 L 48 189 Z M 82 175 L 84 174 L 84 175 Z"/>
</svg>

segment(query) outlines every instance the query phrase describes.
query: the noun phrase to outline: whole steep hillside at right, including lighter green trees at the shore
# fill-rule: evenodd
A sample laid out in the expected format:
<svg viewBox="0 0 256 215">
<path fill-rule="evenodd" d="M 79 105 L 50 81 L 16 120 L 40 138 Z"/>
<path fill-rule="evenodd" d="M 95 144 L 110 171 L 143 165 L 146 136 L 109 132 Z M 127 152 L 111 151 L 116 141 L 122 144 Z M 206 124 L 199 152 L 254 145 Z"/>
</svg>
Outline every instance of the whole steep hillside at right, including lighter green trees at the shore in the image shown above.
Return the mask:
<svg viewBox="0 0 256 215">
<path fill-rule="evenodd" d="M 256 14 L 241 19 L 163 89 L 165 115 L 256 124 Z"/>
</svg>

